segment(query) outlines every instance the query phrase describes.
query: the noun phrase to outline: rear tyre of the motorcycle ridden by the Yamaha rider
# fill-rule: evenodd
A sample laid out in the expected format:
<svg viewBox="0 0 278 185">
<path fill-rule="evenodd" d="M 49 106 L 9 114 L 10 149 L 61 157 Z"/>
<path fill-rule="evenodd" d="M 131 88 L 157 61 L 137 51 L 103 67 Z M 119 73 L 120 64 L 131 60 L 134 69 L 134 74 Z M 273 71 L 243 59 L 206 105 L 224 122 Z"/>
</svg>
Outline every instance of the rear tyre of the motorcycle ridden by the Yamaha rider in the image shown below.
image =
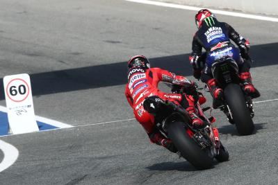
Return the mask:
<svg viewBox="0 0 278 185">
<path fill-rule="evenodd" d="M 229 84 L 224 89 L 224 96 L 231 110 L 236 129 L 240 135 L 250 135 L 254 130 L 254 123 L 250 111 L 245 103 L 243 91 L 239 85 Z"/>
</svg>

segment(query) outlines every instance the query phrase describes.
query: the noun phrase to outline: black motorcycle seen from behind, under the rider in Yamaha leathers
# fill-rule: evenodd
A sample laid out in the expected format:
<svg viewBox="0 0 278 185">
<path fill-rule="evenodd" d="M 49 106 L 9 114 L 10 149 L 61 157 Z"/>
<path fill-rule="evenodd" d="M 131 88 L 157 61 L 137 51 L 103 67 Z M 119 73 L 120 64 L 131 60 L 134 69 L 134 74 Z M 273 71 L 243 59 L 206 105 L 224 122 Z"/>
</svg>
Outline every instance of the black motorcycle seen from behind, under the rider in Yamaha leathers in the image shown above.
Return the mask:
<svg viewBox="0 0 278 185">
<path fill-rule="evenodd" d="M 228 121 L 236 125 L 240 135 L 249 135 L 254 131 L 254 109 L 252 98 L 245 94 L 243 84 L 238 75 L 238 65 L 233 58 L 215 60 L 212 65 L 213 78 L 224 90 L 224 99 L 219 108 L 226 114 Z"/>
</svg>

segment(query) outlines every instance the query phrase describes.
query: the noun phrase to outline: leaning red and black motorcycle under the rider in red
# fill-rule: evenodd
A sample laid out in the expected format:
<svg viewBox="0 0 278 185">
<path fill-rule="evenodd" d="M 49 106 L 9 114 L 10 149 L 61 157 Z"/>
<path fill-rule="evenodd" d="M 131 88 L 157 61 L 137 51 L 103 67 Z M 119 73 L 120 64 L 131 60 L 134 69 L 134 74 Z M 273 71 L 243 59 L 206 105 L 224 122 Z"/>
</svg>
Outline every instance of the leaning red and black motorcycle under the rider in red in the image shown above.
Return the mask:
<svg viewBox="0 0 278 185">
<path fill-rule="evenodd" d="M 180 92 L 182 92 L 181 89 Z M 177 93 L 177 91 L 175 91 Z M 196 128 L 186 109 L 170 101 L 164 101 L 158 96 L 145 99 L 144 108 L 156 119 L 156 127 L 166 138 L 171 139 L 178 154 L 199 170 L 211 168 L 213 159 L 227 161 L 229 152 L 224 148 L 218 136 L 218 130 L 212 126 L 215 118 L 206 118 L 204 112 L 210 107 L 201 105 L 206 98 L 199 93 L 195 109 L 199 118 L 204 121 L 204 127 Z"/>
</svg>

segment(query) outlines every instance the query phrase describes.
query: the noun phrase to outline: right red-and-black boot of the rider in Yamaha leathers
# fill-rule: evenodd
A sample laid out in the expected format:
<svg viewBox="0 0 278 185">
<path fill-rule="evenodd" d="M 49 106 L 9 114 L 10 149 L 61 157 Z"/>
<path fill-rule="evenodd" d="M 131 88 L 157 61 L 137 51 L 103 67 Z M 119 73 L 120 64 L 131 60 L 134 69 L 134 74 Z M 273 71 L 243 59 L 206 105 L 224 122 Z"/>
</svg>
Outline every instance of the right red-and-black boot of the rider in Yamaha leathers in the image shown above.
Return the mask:
<svg viewBox="0 0 278 185">
<path fill-rule="evenodd" d="M 259 91 L 252 84 L 250 72 L 240 73 L 240 80 L 243 82 L 244 91 L 248 96 L 251 96 L 251 98 L 258 98 L 259 96 L 261 96 Z"/>
</svg>

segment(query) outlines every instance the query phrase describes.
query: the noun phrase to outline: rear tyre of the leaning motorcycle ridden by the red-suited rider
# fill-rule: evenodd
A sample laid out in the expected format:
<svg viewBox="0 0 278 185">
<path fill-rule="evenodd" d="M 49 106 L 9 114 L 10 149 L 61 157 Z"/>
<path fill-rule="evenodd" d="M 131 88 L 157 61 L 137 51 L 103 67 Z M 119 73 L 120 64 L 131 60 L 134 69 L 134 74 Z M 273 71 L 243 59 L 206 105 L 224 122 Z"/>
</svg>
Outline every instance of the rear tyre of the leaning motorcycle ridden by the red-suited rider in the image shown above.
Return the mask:
<svg viewBox="0 0 278 185">
<path fill-rule="evenodd" d="M 170 123 L 167 132 L 174 146 L 181 152 L 182 157 L 195 166 L 195 168 L 204 170 L 213 166 L 213 158 L 209 157 L 208 154 L 190 138 L 186 133 L 184 123 Z"/>
</svg>

